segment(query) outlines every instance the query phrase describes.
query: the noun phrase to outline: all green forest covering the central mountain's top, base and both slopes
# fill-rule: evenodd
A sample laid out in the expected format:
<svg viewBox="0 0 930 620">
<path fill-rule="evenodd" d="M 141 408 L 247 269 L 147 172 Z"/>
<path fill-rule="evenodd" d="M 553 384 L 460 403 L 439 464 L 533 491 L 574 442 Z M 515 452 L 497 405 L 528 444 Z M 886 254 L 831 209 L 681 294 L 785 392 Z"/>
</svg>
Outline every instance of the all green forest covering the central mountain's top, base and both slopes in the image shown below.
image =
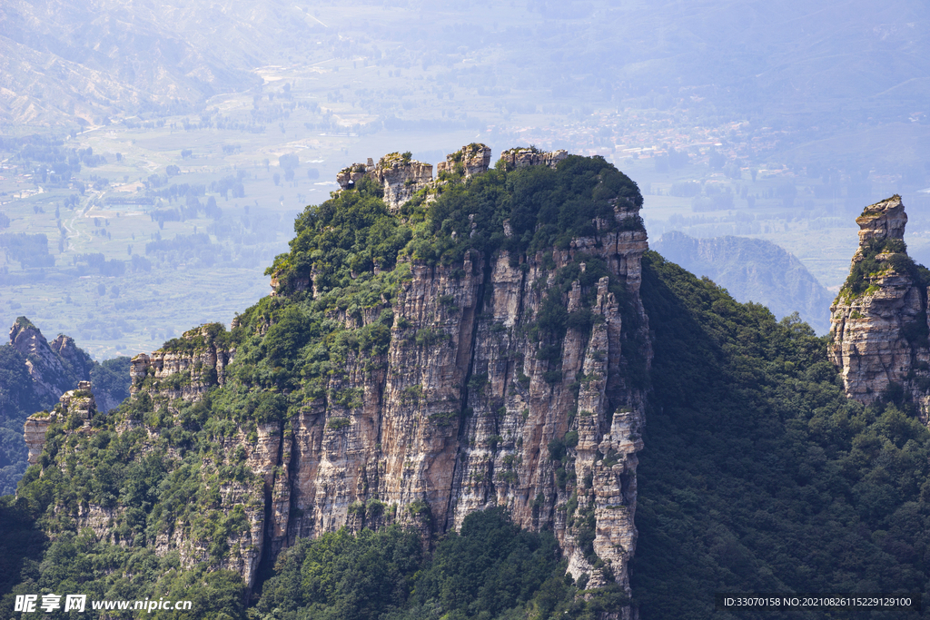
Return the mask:
<svg viewBox="0 0 930 620">
<path fill-rule="evenodd" d="M 225 386 L 199 377 L 214 387 L 177 413 L 143 393 L 95 418 L 89 436 L 69 436 L 67 421 L 52 425 L 43 475 L 30 468 L 18 496 L 0 498 L 0 615 L 13 617 L 16 594 L 39 591 L 187 599 L 230 620 L 593 620 L 618 609 L 626 599 L 617 588 L 585 590 L 565 576 L 551 533 L 521 532 L 498 510 L 472 514 L 429 548 L 398 524 L 300 540 L 267 567 L 253 600 L 237 574 L 206 566 L 229 557 L 225 541 L 246 528 L 242 509 L 219 509 L 217 482 L 259 482 L 244 454 L 228 454 L 218 440 L 236 425 L 247 431 L 294 415 L 347 356 L 374 360 L 386 350 L 390 310 L 359 329 L 327 312 L 391 298 L 408 273 L 401 256 L 451 263 L 471 247 L 521 253 L 565 244 L 603 215 L 608 199 L 638 195 L 627 192 L 635 186 L 603 160 L 573 157 L 554 171 L 493 170 L 435 201 L 420 196 L 399 214 L 366 182 L 308 208 L 291 252 L 272 268 L 288 297 L 262 299 L 232 332 L 216 325 L 166 343 L 235 346 Z M 472 237 L 460 233 L 470 230 L 470 214 L 481 215 Z M 501 232 L 508 217 L 512 238 Z M 315 298 L 301 289 L 311 270 Z M 739 304 L 655 253 L 644 258 L 642 296 L 655 359 L 631 568 L 640 617 L 782 617 L 715 612 L 713 595 L 722 591 L 925 594 L 930 431 L 910 404 L 848 401 L 826 338 L 795 318 L 778 322 L 763 306 Z M 165 386 L 150 378 L 146 387 L 157 394 Z M 118 432 L 127 421 L 144 426 Z M 73 515 L 86 502 L 123 508 L 112 540 L 77 531 Z M 212 541 L 207 561 L 188 571 L 177 570 L 177 552 L 153 549 L 181 520 Z"/>
</svg>

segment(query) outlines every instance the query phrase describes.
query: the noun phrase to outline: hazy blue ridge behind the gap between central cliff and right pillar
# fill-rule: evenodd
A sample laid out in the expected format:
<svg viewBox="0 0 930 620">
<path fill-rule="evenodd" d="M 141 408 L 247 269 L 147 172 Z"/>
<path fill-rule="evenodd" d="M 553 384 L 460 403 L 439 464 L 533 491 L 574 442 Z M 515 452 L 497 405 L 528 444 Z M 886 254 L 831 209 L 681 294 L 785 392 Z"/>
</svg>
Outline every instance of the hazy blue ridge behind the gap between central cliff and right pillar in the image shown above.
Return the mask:
<svg viewBox="0 0 930 620">
<path fill-rule="evenodd" d="M 796 257 L 762 239 L 695 239 L 666 232 L 650 244 L 663 257 L 709 277 L 737 301 L 764 304 L 780 319 L 798 312 L 817 334 L 830 331 L 833 296 Z"/>
</svg>

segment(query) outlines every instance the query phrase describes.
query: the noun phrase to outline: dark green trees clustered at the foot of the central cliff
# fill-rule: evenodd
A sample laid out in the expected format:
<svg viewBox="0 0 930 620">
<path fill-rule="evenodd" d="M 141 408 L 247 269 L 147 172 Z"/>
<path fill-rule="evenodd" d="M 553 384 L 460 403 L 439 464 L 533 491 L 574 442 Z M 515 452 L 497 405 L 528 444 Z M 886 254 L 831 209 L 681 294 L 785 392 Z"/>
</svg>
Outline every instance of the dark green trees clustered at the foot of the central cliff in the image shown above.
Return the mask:
<svg viewBox="0 0 930 620">
<path fill-rule="evenodd" d="M 521 531 L 492 508 L 432 554 L 397 525 L 301 540 L 278 561 L 258 611 L 261 620 L 594 620 L 625 600 L 616 587 L 580 592 L 551 533 Z"/>
</svg>

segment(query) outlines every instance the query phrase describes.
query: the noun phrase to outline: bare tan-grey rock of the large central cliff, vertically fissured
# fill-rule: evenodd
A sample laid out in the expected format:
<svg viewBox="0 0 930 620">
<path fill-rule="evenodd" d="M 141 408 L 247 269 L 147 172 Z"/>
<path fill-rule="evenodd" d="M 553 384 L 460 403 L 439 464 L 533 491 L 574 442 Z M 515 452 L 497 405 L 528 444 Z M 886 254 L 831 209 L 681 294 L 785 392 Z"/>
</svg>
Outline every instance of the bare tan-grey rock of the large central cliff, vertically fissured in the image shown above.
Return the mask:
<svg viewBox="0 0 930 620">
<path fill-rule="evenodd" d="M 554 170 L 566 157 L 525 151 L 511 152 L 516 163 L 508 169 Z M 489 153 L 484 145 L 464 147 L 436 181 L 425 165 L 389 155 L 377 166 L 346 168 L 339 183 L 349 195 L 352 186 L 375 181 L 392 211 L 420 190 L 429 204 L 450 184 L 480 179 Z M 601 182 L 591 179 L 592 187 Z M 303 329 L 303 323 L 284 328 L 287 312 L 333 295 L 306 265 L 293 277 L 273 271 L 274 296 L 237 318 L 231 333 L 206 325 L 137 356 L 133 398 L 115 424 L 119 432 L 142 433 L 140 455 L 183 423 L 166 419 L 190 420 L 206 407 L 216 411 L 224 399 L 246 399 L 230 414 L 235 424 L 211 431 L 211 452 L 200 466 L 203 494 L 215 496 L 212 507 L 241 517 L 219 541 L 228 553 L 210 550 L 218 534 L 194 527 L 197 516 L 160 529 L 154 548 L 179 551 L 185 566 L 231 569 L 254 587 L 300 537 L 400 522 L 429 541 L 474 510 L 504 506 L 523 527 L 551 528 L 569 572 L 588 575 L 589 587 L 616 582 L 629 592 L 636 453 L 643 448 L 652 350 L 639 294 L 648 247 L 638 215 L 642 198 L 626 182 L 634 195 L 604 199 L 609 217 L 584 223 L 588 234 L 562 247 L 468 249 L 445 264 L 398 257 L 390 273 L 374 276 L 394 278 L 390 290 L 364 306 L 327 307 L 327 329 L 351 335 L 326 340 L 329 350 L 348 338 L 357 344 L 312 389 L 307 382 L 280 393 L 246 385 L 259 381 L 249 374 L 253 359 L 268 359 L 272 341 Z M 474 234 L 477 222 L 472 216 L 465 226 L 469 221 Z M 515 239 L 510 221 L 489 234 L 500 243 Z M 246 351 L 244 342 L 262 344 Z M 280 376 L 287 363 L 270 363 L 268 372 Z M 304 376 L 312 376 L 310 368 Z M 274 399 L 286 402 L 286 416 L 262 413 L 278 406 Z M 224 463 L 246 473 L 207 481 Z M 113 521 L 104 519 L 112 514 L 93 504 L 81 508 L 101 539 L 117 542 L 106 525 Z"/>
</svg>

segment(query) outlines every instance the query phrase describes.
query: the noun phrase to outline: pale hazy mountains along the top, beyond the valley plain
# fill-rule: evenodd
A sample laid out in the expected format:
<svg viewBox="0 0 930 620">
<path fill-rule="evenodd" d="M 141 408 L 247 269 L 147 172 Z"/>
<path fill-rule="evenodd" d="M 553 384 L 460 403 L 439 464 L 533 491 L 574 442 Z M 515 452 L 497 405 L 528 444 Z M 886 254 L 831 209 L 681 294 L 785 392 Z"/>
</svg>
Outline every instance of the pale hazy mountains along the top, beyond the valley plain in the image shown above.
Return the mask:
<svg viewBox="0 0 930 620">
<path fill-rule="evenodd" d="M 684 101 L 711 116 L 762 114 L 786 129 L 925 123 L 928 25 L 930 9 L 914 0 L 12 0 L 0 6 L 0 122 L 93 122 L 196 105 L 259 86 L 259 67 L 335 57 L 358 60 L 363 87 L 369 63 L 445 64 L 467 69 L 475 90 L 498 78 L 498 88 L 534 104 Z"/>
</svg>

